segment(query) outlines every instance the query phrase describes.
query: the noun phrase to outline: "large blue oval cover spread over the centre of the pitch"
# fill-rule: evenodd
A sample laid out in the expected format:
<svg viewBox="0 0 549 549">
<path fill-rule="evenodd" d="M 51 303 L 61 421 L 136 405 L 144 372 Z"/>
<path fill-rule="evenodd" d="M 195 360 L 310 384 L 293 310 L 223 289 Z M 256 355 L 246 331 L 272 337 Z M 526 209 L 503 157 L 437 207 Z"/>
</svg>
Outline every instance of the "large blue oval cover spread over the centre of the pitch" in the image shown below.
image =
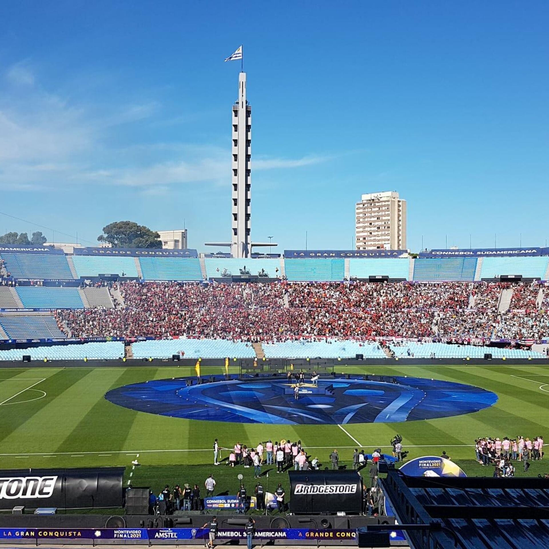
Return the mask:
<svg viewBox="0 0 549 549">
<path fill-rule="evenodd" d="M 393 423 L 460 416 L 497 401 L 497 395 L 472 385 L 439 379 L 364 376 L 326 378 L 318 385 L 281 378 L 217 377 L 150 380 L 109 391 L 113 404 L 161 416 L 267 424 Z M 192 384 L 191 384 L 192 383 Z"/>
</svg>

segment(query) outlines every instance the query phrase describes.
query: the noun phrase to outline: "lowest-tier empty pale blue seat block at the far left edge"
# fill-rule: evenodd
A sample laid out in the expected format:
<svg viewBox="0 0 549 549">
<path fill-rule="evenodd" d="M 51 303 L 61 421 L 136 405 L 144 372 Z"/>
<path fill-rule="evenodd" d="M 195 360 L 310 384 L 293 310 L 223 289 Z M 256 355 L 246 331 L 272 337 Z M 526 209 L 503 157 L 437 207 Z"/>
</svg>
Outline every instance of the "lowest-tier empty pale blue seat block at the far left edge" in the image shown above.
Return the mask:
<svg viewBox="0 0 549 549">
<path fill-rule="evenodd" d="M 0 350 L 0 360 L 23 360 L 30 355 L 31 360 L 115 360 L 124 358 L 124 341 L 93 341 L 92 343 L 69 345 L 44 345 L 29 349 Z"/>
</svg>

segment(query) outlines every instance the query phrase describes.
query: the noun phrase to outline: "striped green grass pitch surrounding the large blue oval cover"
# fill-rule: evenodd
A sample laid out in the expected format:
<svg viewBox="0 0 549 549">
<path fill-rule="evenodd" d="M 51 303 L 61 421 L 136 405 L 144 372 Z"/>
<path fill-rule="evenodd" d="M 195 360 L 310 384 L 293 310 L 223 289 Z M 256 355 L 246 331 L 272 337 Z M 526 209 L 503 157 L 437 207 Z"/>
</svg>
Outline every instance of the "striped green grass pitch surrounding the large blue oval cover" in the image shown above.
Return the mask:
<svg viewBox="0 0 549 549">
<path fill-rule="evenodd" d="M 497 403 L 480 412 L 451 418 L 403 423 L 344 425 L 263 425 L 188 421 L 128 410 L 104 399 L 110 389 L 147 379 L 194 375 L 189 367 L 3 368 L 0 369 L 0 468 L 125 466 L 135 486 L 194 482 L 204 475 L 222 478 L 220 491 L 232 491 L 237 470 L 212 465 L 212 444 L 232 447 L 236 441 L 302 441 L 308 453 L 326 462 L 339 450 L 349 462 L 355 447 L 390 450 L 395 433 L 402 434 L 408 459 L 440 455 L 442 450 L 468 475 L 491 475 L 474 460 L 478 436 L 545 435 L 549 441 L 549 368 L 487 363 L 486 366 L 342 367 L 349 373 L 408 375 L 444 379 L 494 391 Z M 338 369 L 338 368 L 336 368 Z M 233 369 L 236 373 L 236 369 Z M 203 375 L 224 368 L 203 368 Z M 547 384 L 547 386 L 545 386 Z M 140 466 L 131 461 L 139 454 Z M 227 453 L 223 457 L 226 457 Z M 547 464 L 547 467 L 546 467 Z M 528 473 L 549 472 L 546 460 L 533 462 Z M 238 472 L 253 483 L 253 468 Z M 265 472 L 265 468 L 264 468 Z M 130 473 L 132 476 L 130 477 Z M 523 475 L 522 464 L 517 475 Z M 193 478 L 190 478 L 193 477 Z M 271 475 L 275 480 L 287 475 Z M 233 486 L 234 484 L 234 486 Z"/>
</svg>

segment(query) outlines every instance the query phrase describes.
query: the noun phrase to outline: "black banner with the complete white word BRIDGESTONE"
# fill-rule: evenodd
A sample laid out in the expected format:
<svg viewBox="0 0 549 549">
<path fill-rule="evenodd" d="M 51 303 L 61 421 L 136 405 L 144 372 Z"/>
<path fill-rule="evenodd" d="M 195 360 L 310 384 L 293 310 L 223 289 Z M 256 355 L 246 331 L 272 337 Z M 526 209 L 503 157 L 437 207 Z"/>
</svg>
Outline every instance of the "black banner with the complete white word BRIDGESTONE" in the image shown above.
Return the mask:
<svg viewBox="0 0 549 549">
<path fill-rule="evenodd" d="M 360 513 L 362 480 L 356 471 L 289 471 L 290 511 Z"/>
</svg>

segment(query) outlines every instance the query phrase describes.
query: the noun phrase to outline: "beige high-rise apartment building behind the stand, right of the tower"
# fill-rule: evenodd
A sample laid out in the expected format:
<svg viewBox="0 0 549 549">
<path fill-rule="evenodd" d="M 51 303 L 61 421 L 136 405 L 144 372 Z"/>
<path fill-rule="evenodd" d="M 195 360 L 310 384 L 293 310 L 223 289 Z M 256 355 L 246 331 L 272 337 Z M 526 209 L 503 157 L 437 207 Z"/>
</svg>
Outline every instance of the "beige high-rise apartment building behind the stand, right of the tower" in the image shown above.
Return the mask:
<svg viewBox="0 0 549 549">
<path fill-rule="evenodd" d="M 406 249 L 406 200 L 387 191 L 363 194 L 356 203 L 357 250 Z"/>
</svg>

